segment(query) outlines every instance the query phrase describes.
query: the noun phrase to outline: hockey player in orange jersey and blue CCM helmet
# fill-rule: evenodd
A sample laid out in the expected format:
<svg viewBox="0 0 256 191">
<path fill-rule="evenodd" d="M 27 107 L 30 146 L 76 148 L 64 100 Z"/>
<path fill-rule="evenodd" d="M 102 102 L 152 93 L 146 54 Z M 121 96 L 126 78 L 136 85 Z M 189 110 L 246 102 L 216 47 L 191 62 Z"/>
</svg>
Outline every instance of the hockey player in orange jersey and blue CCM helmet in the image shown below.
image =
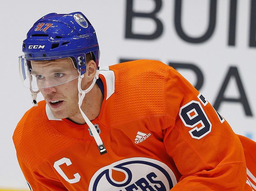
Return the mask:
<svg viewBox="0 0 256 191">
<path fill-rule="evenodd" d="M 252 190 L 256 170 L 238 136 L 173 68 L 139 60 L 98 70 L 81 12 L 40 18 L 22 50 L 21 81 L 37 107 L 13 141 L 31 190 Z"/>
</svg>

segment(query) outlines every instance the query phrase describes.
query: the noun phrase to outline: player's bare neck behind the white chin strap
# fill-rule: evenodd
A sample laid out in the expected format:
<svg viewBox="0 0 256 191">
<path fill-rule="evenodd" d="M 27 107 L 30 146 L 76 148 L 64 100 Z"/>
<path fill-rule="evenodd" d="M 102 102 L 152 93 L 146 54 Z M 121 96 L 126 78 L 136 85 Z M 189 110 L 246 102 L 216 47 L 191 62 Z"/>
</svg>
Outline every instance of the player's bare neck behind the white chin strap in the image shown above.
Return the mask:
<svg viewBox="0 0 256 191">
<path fill-rule="evenodd" d="M 90 121 L 96 119 L 99 116 L 103 99 L 104 97 L 97 84 L 95 84 L 92 90 L 85 95 L 81 109 Z M 80 111 L 76 115 L 67 119 L 77 124 L 85 123 Z"/>
</svg>

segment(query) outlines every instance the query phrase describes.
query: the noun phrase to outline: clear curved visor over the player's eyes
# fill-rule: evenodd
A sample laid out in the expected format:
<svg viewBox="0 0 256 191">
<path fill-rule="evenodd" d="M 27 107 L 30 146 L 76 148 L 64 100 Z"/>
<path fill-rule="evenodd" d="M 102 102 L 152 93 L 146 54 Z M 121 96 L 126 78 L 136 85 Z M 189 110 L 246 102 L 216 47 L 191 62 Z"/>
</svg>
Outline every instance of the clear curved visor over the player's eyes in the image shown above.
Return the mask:
<svg viewBox="0 0 256 191">
<path fill-rule="evenodd" d="M 22 85 L 40 89 L 65 84 L 79 77 L 79 72 L 71 57 L 31 60 L 19 56 L 19 72 Z"/>
</svg>

